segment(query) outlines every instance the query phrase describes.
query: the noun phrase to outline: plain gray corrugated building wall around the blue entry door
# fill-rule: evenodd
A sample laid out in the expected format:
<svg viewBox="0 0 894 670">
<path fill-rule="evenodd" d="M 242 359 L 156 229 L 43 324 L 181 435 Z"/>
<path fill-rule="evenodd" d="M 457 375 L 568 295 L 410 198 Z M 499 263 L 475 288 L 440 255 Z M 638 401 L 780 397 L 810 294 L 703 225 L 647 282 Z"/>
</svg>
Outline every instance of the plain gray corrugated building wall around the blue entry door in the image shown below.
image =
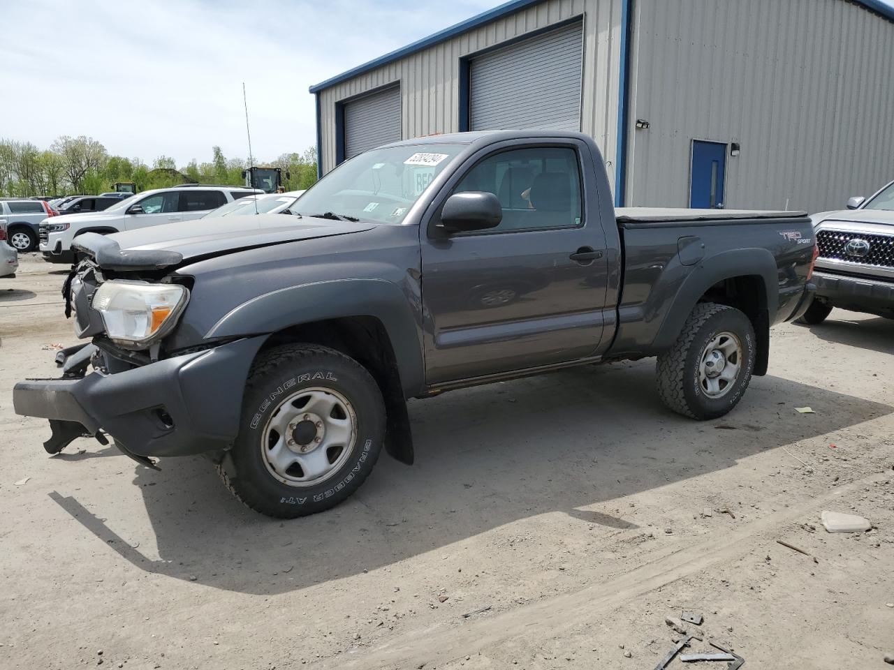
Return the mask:
<svg viewBox="0 0 894 670">
<path fill-rule="evenodd" d="M 628 205 L 687 205 L 693 138 L 741 144 L 730 208 L 842 209 L 894 179 L 894 23 L 843 0 L 635 5 Z"/>
</svg>

